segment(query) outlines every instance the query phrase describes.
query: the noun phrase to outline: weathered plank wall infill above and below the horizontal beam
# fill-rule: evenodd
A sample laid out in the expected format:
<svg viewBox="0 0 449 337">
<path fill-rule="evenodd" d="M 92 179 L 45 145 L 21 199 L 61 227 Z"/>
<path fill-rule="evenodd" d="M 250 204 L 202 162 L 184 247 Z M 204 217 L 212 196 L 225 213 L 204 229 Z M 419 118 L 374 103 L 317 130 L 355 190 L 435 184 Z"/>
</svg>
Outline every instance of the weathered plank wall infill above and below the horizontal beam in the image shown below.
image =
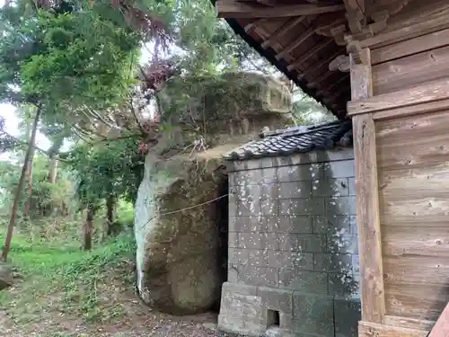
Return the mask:
<svg viewBox="0 0 449 337">
<path fill-rule="evenodd" d="M 372 64 L 374 96 L 449 78 L 449 29 L 373 49 Z M 449 106 L 375 130 L 385 315 L 436 321 L 449 302 Z"/>
</svg>

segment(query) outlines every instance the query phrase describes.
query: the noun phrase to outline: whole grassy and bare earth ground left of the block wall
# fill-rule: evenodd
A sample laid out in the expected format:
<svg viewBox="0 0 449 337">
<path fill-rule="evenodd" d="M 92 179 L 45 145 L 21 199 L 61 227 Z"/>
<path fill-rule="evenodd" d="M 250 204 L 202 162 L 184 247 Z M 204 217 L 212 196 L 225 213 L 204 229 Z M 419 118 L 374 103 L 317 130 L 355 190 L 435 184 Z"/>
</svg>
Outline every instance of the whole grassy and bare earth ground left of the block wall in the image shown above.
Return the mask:
<svg viewBox="0 0 449 337">
<path fill-rule="evenodd" d="M 60 228 L 15 233 L 16 278 L 0 291 L 0 336 L 219 335 L 213 313 L 175 317 L 145 306 L 135 291 L 134 252 L 132 233 L 95 242 L 88 253 Z"/>
</svg>

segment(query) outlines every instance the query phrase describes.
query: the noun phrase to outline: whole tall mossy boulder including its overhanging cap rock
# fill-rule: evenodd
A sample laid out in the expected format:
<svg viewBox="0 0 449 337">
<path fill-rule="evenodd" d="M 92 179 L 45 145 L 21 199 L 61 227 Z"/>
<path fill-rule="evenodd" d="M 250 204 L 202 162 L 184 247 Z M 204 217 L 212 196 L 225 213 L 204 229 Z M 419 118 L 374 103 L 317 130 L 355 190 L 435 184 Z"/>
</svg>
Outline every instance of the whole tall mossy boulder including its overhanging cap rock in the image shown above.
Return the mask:
<svg viewBox="0 0 449 337">
<path fill-rule="evenodd" d="M 291 96 L 276 80 L 240 73 L 200 80 L 172 82 L 161 95 L 170 128 L 146 156 L 135 208 L 139 295 L 175 315 L 215 305 L 225 281 L 218 230 L 227 210 L 211 201 L 227 188 L 222 156 L 292 120 Z"/>
</svg>

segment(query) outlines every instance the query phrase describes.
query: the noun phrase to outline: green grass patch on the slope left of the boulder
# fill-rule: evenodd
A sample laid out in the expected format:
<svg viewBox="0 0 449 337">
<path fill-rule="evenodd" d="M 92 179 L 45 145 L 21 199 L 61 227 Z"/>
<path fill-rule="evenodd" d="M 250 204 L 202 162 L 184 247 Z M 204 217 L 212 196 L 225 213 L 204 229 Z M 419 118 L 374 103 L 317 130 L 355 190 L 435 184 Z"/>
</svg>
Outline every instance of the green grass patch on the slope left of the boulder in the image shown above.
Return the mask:
<svg viewBox="0 0 449 337">
<path fill-rule="evenodd" d="M 130 228 L 117 237 L 96 240 L 91 252 L 80 249 L 78 236 L 76 230 L 48 235 L 41 224 L 38 230 L 14 234 L 9 259 L 22 280 L 0 292 L 0 307 L 14 324 L 37 322 L 43 315 L 106 322 L 123 314 L 119 295 L 134 283 L 127 264 L 135 252 Z"/>
</svg>

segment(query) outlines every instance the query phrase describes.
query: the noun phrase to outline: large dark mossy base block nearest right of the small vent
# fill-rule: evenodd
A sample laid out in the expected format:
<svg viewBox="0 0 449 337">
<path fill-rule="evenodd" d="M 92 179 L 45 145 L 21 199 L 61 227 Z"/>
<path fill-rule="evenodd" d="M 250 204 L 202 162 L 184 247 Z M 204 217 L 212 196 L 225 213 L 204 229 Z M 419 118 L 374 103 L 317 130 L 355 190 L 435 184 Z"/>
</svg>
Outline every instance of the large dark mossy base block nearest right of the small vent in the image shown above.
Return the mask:
<svg viewBox="0 0 449 337">
<path fill-rule="evenodd" d="M 293 294 L 293 312 L 295 331 L 333 337 L 334 308 L 332 297 L 295 291 Z"/>
</svg>

